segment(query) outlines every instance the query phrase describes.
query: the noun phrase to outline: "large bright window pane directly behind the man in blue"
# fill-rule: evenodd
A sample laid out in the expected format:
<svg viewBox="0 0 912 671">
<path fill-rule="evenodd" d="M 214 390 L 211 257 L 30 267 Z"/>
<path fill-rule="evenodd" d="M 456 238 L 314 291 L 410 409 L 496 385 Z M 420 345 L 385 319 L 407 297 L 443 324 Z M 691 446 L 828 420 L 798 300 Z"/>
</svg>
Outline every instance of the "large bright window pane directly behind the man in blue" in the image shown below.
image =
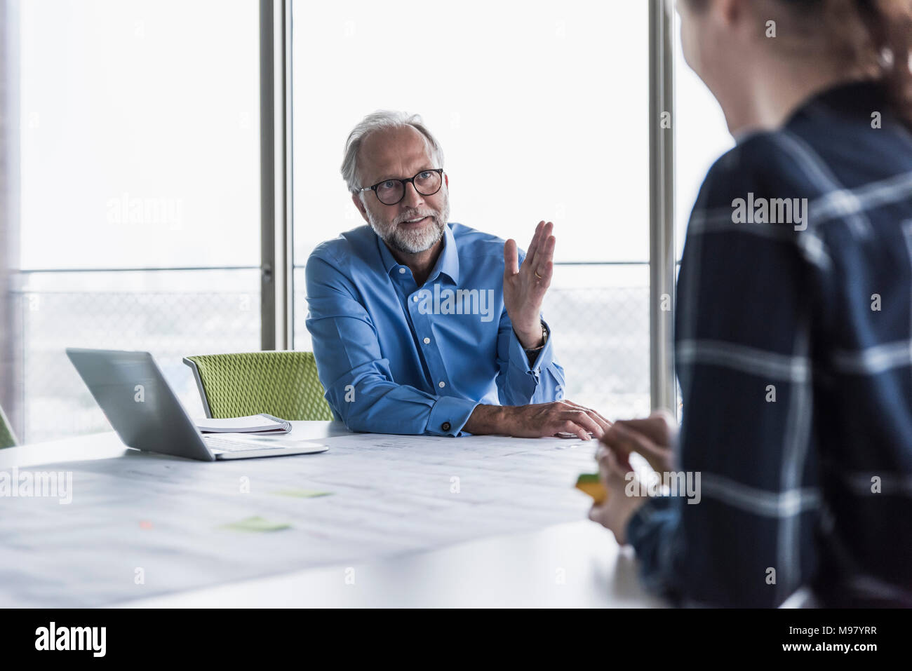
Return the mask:
<svg viewBox="0 0 912 671">
<path fill-rule="evenodd" d="M 443 146 L 452 222 L 523 249 L 554 222 L 544 315 L 567 397 L 648 412 L 648 5 L 293 10 L 295 348 L 310 348 L 308 254 L 364 223 L 339 174 L 348 132 L 378 108 L 417 112 Z"/>
</svg>

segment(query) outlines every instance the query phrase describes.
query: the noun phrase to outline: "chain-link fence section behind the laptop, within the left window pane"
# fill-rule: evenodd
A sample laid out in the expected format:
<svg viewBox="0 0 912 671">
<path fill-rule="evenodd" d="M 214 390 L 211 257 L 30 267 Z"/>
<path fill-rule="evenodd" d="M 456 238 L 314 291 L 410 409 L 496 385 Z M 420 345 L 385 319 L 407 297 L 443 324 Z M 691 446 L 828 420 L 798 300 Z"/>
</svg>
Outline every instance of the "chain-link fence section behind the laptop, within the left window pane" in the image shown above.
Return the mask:
<svg viewBox="0 0 912 671">
<path fill-rule="evenodd" d="M 98 283 L 89 282 L 80 291 L 26 287 L 16 292 L 23 379 L 21 411 L 11 419 L 20 427 L 19 438 L 39 442 L 110 430 L 67 358 L 67 347 L 149 351 L 191 417 L 203 417 L 192 372 L 181 359 L 260 348 L 259 274 L 198 271 L 190 277 L 156 278 L 156 284 L 195 286 L 202 284 L 197 275 L 215 273 L 225 275 L 225 291 L 110 291 L 92 288 Z M 237 276 L 243 274 L 246 277 Z M 58 275 L 50 284 L 80 284 L 82 279 Z M 129 286 L 135 279 L 126 273 L 106 275 L 107 285 Z M 239 290 L 228 290 L 232 285 Z M 244 291 L 246 287 L 252 290 Z"/>
</svg>

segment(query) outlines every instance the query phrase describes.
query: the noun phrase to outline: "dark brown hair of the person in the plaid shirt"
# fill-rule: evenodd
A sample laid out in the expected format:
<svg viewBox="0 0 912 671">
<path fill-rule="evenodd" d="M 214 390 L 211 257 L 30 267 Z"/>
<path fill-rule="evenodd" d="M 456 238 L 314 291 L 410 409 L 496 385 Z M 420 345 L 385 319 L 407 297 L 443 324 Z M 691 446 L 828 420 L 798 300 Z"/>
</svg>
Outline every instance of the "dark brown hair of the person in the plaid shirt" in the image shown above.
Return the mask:
<svg viewBox="0 0 912 671">
<path fill-rule="evenodd" d="M 710 0 L 687 2 L 697 12 L 710 4 Z M 784 10 L 787 19 L 801 22 L 805 35 L 823 26 L 834 48 L 845 51 L 846 69 L 861 66 L 882 81 L 896 116 L 912 129 L 912 0 L 767 2 Z"/>
</svg>

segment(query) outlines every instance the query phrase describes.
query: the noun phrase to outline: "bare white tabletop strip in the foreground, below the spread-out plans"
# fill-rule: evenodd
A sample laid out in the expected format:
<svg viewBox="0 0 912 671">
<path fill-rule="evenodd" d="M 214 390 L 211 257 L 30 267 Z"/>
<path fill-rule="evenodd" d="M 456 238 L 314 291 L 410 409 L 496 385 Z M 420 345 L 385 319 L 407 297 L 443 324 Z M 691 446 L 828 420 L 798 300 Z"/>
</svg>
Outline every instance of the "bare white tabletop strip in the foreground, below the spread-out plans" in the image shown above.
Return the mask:
<svg viewBox="0 0 912 671">
<path fill-rule="evenodd" d="M 352 580 L 352 578 L 354 580 Z M 576 521 L 375 563 L 331 566 L 140 599 L 158 607 L 662 607 L 629 548 Z"/>
</svg>

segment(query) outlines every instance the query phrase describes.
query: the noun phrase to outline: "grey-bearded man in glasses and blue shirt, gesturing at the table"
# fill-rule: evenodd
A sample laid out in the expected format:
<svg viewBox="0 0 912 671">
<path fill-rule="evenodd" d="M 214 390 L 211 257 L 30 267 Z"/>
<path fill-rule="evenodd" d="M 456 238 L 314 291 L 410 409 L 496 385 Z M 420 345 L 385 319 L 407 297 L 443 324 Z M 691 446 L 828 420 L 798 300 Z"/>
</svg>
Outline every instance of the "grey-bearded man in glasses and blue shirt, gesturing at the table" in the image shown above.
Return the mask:
<svg viewBox="0 0 912 671">
<path fill-rule="evenodd" d="M 326 399 L 347 427 L 601 437 L 609 422 L 563 399 L 541 316 L 553 224 L 539 222 L 522 254 L 513 240 L 449 223 L 443 154 L 417 115 L 365 117 L 342 176 L 369 225 L 311 253 L 306 324 Z"/>
</svg>

